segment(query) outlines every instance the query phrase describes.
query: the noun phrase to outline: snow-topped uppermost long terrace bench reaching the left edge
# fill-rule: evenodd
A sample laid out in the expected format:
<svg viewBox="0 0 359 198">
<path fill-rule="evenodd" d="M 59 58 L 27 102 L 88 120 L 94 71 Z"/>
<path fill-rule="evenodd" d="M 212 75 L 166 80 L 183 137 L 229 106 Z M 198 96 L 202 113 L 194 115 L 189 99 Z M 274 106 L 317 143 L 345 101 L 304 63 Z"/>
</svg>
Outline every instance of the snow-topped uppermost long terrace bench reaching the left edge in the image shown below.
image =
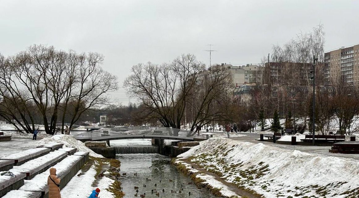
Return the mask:
<svg viewBox="0 0 359 198">
<path fill-rule="evenodd" d="M 14 166 L 20 166 L 25 162 L 50 153 L 50 148 L 32 148 L 19 153 L 1 157 L 0 160 L 14 160 Z"/>
</svg>

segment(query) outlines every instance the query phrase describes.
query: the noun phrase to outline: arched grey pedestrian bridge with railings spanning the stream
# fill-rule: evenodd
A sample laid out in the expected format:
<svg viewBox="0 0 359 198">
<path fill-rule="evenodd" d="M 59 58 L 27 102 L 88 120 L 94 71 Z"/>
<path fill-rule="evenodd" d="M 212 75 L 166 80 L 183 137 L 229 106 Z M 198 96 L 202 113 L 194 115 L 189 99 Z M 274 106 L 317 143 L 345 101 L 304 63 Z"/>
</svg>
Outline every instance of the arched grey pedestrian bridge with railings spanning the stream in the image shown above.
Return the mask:
<svg viewBox="0 0 359 198">
<path fill-rule="evenodd" d="M 209 135 L 183 129 L 158 126 L 115 126 L 84 132 L 73 137 L 79 141 L 109 141 L 116 139 L 173 139 L 180 141 L 203 141 Z"/>
</svg>

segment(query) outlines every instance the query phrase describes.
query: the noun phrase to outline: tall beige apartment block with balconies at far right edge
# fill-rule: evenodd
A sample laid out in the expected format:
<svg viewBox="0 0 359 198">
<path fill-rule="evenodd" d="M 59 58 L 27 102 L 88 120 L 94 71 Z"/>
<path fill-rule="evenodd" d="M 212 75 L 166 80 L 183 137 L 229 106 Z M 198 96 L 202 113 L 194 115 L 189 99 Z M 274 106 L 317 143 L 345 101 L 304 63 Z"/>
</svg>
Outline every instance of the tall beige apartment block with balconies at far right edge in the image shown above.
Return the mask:
<svg viewBox="0 0 359 198">
<path fill-rule="evenodd" d="M 325 53 L 323 78 L 327 84 L 339 78 L 348 83 L 359 83 L 359 45 Z"/>
</svg>

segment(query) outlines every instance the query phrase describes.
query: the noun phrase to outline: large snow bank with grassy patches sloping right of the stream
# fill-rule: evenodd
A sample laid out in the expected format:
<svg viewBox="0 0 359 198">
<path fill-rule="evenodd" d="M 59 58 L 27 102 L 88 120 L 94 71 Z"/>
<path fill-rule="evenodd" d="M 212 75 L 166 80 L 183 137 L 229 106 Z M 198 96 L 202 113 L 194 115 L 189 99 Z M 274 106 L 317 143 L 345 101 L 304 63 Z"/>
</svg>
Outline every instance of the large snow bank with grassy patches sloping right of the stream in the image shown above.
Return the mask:
<svg viewBox="0 0 359 198">
<path fill-rule="evenodd" d="M 358 195 L 359 161 L 311 155 L 262 143 L 210 138 L 178 157 L 265 197 L 336 197 Z M 343 194 L 342 194 L 343 193 Z M 345 194 L 344 194 L 345 193 Z"/>
</svg>

